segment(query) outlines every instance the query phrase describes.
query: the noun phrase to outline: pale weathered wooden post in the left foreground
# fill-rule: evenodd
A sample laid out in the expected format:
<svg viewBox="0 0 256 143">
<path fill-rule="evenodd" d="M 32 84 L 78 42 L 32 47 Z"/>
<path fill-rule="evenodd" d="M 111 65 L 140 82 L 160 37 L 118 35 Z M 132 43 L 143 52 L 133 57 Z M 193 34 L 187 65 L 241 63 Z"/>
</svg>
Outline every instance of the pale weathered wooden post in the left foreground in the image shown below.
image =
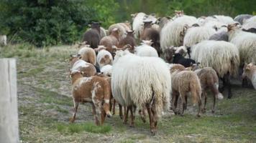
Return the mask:
<svg viewBox="0 0 256 143">
<path fill-rule="evenodd" d="M 0 142 L 19 142 L 15 59 L 0 59 Z"/>
</svg>

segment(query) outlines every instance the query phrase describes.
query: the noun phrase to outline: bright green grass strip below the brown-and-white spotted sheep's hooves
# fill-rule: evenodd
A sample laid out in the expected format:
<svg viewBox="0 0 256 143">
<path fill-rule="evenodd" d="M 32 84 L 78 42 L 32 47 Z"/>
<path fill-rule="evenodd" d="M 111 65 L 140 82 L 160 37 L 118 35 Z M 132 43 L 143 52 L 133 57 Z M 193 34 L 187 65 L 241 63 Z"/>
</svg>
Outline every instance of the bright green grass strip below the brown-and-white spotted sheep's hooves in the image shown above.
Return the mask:
<svg viewBox="0 0 256 143">
<path fill-rule="evenodd" d="M 86 123 L 74 123 L 74 124 L 57 124 L 56 129 L 58 132 L 65 134 L 80 133 L 83 131 L 96 133 L 96 134 L 105 134 L 111 131 L 111 126 L 109 124 L 104 124 L 102 126 L 96 126 L 93 122 Z"/>
</svg>

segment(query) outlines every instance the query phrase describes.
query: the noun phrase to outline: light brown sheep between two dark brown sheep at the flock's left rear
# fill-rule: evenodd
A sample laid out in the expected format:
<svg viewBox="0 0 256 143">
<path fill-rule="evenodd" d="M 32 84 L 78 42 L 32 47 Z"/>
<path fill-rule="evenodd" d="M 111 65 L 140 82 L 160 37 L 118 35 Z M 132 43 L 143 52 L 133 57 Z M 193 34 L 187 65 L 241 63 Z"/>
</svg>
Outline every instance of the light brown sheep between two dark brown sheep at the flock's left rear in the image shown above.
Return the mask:
<svg viewBox="0 0 256 143">
<path fill-rule="evenodd" d="M 119 32 L 119 29 L 114 28 L 109 36 L 101 39 L 99 45 L 106 46 L 106 50 L 112 53 L 112 46 L 118 46 L 119 44 Z"/>
</svg>

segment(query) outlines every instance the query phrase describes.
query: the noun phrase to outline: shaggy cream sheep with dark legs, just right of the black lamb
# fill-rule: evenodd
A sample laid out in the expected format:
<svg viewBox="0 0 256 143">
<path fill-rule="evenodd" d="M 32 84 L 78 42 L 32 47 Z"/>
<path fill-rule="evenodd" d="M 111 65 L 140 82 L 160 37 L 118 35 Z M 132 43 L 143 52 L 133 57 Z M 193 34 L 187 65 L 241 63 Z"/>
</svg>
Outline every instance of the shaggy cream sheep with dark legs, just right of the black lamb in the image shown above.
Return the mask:
<svg viewBox="0 0 256 143">
<path fill-rule="evenodd" d="M 191 59 L 201 63 L 202 67 L 211 66 L 228 86 L 228 98 L 232 97 L 230 76 L 236 75 L 239 66 L 239 51 L 237 47 L 227 41 L 201 41 L 193 46 Z"/>
</svg>

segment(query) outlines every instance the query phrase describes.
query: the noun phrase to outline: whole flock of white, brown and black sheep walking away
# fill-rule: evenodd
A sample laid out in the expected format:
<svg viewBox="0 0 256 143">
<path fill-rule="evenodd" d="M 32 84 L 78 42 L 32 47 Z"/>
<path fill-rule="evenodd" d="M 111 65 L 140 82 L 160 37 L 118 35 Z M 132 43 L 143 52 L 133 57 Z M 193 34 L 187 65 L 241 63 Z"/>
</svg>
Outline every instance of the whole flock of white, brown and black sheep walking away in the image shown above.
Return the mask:
<svg viewBox="0 0 256 143">
<path fill-rule="evenodd" d="M 112 108 L 115 113 L 117 102 L 124 123 L 130 112 L 131 127 L 136 108 L 143 122 L 147 112 L 155 134 L 164 111 L 173 109 L 183 115 L 188 96 L 198 104 L 198 117 L 206 112 L 206 89 L 213 93 L 214 112 L 224 87 L 228 87 L 228 98 L 232 97 L 230 77 L 242 76 L 243 84 L 250 82 L 256 89 L 256 16 L 196 19 L 175 11 L 173 18 L 157 19 L 144 13 L 132 17 L 132 26 L 117 23 L 106 31 L 93 22 L 83 34 L 78 54 L 70 58 L 75 110 L 70 122 L 76 119 L 78 104 L 90 102 L 96 124 L 103 124 Z M 178 99 L 181 111 L 176 109 Z"/>
</svg>

